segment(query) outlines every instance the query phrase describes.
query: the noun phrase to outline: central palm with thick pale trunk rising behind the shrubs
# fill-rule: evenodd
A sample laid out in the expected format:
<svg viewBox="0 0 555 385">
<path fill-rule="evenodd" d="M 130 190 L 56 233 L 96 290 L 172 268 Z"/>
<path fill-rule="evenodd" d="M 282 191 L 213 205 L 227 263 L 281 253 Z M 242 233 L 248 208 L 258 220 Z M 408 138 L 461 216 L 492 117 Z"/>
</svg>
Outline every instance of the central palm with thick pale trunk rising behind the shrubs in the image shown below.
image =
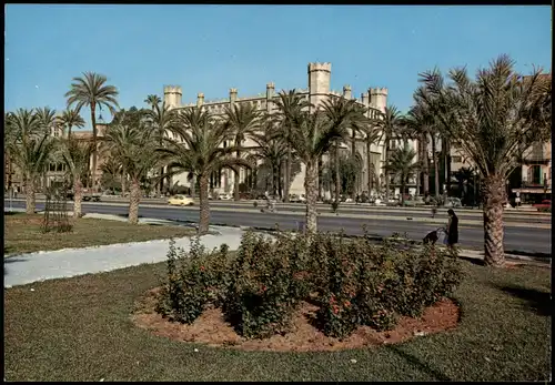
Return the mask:
<svg viewBox="0 0 555 385">
<path fill-rule="evenodd" d="M 342 138 L 342 121 L 330 122 L 324 112 L 302 112 L 294 122 L 290 144 L 305 165 L 304 190 L 306 195 L 306 231 L 317 230 L 317 164 L 334 141 Z"/>
</svg>

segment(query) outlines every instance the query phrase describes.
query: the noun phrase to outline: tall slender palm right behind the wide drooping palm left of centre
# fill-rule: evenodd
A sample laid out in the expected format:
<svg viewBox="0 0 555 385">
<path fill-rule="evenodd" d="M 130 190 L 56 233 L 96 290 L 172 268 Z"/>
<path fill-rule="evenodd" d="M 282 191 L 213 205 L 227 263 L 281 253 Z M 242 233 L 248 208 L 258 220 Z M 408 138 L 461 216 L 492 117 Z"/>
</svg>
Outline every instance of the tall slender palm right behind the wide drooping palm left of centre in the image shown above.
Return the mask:
<svg viewBox="0 0 555 385">
<path fill-rule="evenodd" d="M 236 151 L 236 156 L 238 159 L 241 158 L 241 146 L 243 145 L 243 142 L 252 138 L 252 135 L 259 130 L 260 128 L 260 119 L 261 114 L 250 103 L 245 104 L 234 104 L 232 107 L 226 107 L 225 112 L 224 112 L 224 125 L 226 130 L 230 130 L 230 132 L 233 133 L 233 140 L 235 143 L 235 146 L 238 148 Z M 240 169 L 238 169 L 240 170 Z M 240 200 L 239 195 L 239 172 L 235 174 L 235 181 L 234 181 L 234 188 L 233 188 L 233 199 L 234 201 Z"/>
</svg>

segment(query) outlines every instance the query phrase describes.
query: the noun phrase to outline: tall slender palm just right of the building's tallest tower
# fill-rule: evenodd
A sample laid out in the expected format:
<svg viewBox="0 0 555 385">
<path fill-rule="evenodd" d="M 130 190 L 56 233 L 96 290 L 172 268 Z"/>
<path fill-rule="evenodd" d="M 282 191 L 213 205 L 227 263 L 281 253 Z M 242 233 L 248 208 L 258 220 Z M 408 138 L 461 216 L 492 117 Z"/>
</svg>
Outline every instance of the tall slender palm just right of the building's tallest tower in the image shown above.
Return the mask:
<svg viewBox="0 0 555 385">
<path fill-rule="evenodd" d="M 325 100 L 322 104 L 322 111 L 331 125 L 334 125 L 341 138 L 334 143 L 334 164 L 335 164 L 335 202 L 340 200 L 341 179 L 340 179 L 340 144 L 346 141 L 351 130 L 354 131 L 361 122 L 365 122 L 364 110 L 356 105 L 354 100 L 343 98 L 333 98 Z"/>
</svg>

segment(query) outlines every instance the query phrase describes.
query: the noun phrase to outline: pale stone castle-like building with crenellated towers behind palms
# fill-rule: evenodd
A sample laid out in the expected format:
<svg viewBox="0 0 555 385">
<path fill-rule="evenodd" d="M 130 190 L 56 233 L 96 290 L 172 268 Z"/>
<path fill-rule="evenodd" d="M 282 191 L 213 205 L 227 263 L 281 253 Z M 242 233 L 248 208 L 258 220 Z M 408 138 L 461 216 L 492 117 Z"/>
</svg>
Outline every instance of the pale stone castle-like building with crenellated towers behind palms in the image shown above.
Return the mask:
<svg viewBox="0 0 555 385">
<path fill-rule="evenodd" d="M 385 88 L 369 88 L 366 92 L 361 94 L 360 99 L 353 98 L 352 90 L 350 85 L 344 85 L 342 92 L 331 90 L 331 75 L 332 75 L 332 64 L 331 63 L 309 63 L 307 65 L 307 88 L 296 89 L 296 91 L 309 100 L 315 108 L 319 108 L 324 100 L 329 98 L 344 98 L 347 100 L 355 100 L 359 104 L 364 107 L 372 107 L 381 111 L 385 111 L 387 103 L 387 89 Z M 292 89 L 291 87 L 286 89 Z M 225 111 L 225 107 L 232 104 L 251 103 L 261 111 L 272 112 L 276 109 L 275 101 L 279 99 L 278 92 L 275 91 L 275 84 L 270 82 L 266 84 L 265 92 L 259 93 L 258 95 L 251 97 L 239 97 L 238 89 L 230 89 L 229 98 L 222 100 L 205 100 L 203 93 L 198 93 L 196 103 L 182 103 L 183 91 L 179 85 L 167 85 L 164 87 L 164 102 L 171 109 L 186 109 L 192 107 L 199 107 L 205 109 L 208 112 L 220 115 Z M 362 138 L 361 138 L 362 139 Z M 254 146 L 254 142 L 248 140 L 244 145 L 246 148 Z M 350 144 L 345 143 L 343 145 L 343 151 L 350 151 Z M 367 190 L 369 175 L 380 175 L 382 174 L 382 166 L 384 165 L 385 153 L 384 143 L 376 143 L 371 146 L 371 164 L 366 163 L 364 143 L 356 144 L 356 159 L 362 164 L 362 175 L 359 178 L 356 183 L 356 190 L 359 192 Z M 373 170 L 373 172 L 369 172 Z M 244 182 L 248 179 L 248 173 L 244 170 L 241 171 L 240 182 Z M 190 182 L 186 180 L 186 175 L 178 175 L 173 179 L 173 182 L 178 181 L 179 184 L 189 185 Z M 232 192 L 233 190 L 234 173 L 231 171 L 222 171 L 218 173 L 211 180 L 211 184 L 215 192 Z M 290 193 L 301 194 L 304 193 L 304 165 L 301 165 L 301 172 L 294 176 L 291 182 Z"/>
</svg>

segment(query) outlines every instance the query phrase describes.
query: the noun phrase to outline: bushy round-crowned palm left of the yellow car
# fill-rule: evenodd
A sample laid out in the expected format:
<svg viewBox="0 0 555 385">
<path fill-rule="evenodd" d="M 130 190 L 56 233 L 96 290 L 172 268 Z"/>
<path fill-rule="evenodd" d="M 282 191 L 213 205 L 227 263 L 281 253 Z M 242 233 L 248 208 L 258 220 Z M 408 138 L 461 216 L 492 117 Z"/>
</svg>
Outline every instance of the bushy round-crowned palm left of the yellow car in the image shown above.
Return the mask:
<svg viewBox="0 0 555 385">
<path fill-rule="evenodd" d="M 104 151 L 118 160 L 129 176 L 129 223 L 139 223 L 141 180 L 160 163 L 153 134 L 140 125 L 110 125 L 103 140 Z"/>
</svg>

